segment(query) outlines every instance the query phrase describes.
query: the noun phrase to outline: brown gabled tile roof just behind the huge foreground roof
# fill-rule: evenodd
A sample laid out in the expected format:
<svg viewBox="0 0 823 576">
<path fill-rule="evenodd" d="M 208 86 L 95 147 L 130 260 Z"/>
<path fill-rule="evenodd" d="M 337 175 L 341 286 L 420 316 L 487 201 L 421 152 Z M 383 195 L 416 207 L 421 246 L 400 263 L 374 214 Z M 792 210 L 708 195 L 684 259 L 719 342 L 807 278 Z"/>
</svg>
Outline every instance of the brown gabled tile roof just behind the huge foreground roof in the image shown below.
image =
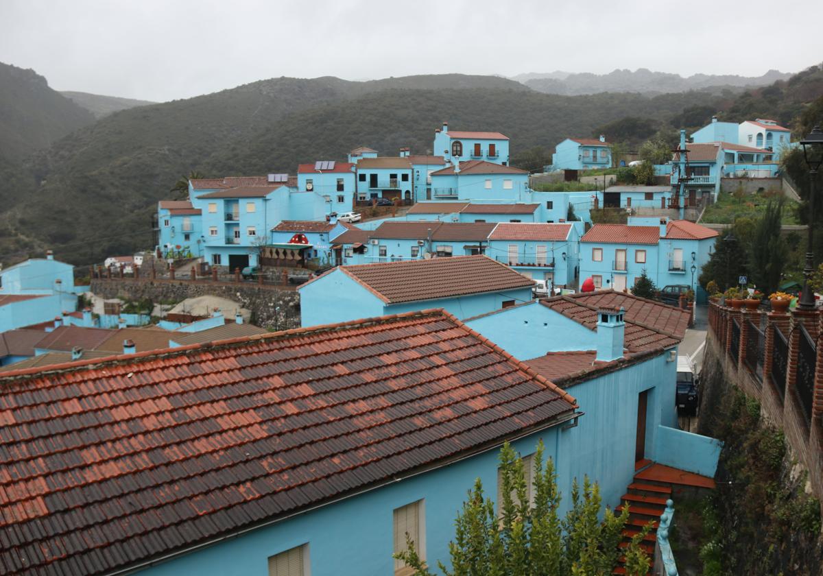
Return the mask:
<svg viewBox="0 0 823 576">
<path fill-rule="evenodd" d="M 360 282 L 386 304 L 420 302 L 500 290 L 531 288 L 534 281 L 487 256 L 455 256 L 341 266 L 344 274 Z M 331 272 L 327 272 L 329 274 Z M 326 274 L 311 282 L 320 281 Z"/>
</svg>

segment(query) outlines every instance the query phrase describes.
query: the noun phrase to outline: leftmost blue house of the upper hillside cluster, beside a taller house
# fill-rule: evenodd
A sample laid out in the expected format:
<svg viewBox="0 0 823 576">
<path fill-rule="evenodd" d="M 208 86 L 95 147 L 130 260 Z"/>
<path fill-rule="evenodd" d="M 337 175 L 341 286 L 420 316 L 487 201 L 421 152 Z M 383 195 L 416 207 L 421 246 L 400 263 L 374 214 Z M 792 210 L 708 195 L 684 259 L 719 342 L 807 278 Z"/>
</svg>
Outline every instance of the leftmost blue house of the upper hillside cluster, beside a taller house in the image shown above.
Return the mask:
<svg viewBox="0 0 823 576">
<path fill-rule="evenodd" d="M 157 225 L 160 230 L 159 246 L 163 258 L 174 253 L 190 253 L 194 258 L 203 255 L 206 239 L 202 230 L 200 208 L 188 200 L 160 200 L 157 203 Z"/>
</svg>

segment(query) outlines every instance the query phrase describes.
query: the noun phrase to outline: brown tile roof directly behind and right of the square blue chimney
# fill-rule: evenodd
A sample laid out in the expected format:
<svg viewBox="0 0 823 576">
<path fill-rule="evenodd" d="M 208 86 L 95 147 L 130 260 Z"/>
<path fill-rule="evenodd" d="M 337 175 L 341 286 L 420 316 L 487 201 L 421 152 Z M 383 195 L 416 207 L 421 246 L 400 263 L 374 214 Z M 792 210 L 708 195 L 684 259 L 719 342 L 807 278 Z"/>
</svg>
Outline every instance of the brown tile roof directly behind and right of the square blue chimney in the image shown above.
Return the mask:
<svg viewBox="0 0 823 576">
<path fill-rule="evenodd" d="M 674 346 L 686 336 L 689 325 L 687 310 L 613 290 L 555 296 L 540 303 L 590 330 L 597 325 L 597 309 L 623 307 L 625 347 L 629 351 Z"/>
</svg>

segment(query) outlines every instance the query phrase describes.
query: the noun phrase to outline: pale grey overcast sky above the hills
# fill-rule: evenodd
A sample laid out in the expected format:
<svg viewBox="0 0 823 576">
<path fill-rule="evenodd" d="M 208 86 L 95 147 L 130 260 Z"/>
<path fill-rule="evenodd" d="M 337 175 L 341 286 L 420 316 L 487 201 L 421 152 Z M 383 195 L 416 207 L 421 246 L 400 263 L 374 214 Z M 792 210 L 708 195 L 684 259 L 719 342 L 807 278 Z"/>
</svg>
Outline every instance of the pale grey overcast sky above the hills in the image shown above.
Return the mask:
<svg viewBox="0 0 823 576">
<path fill-rule="evenodd" d="M 281 76 L 362 80 L 638 67 L 760 76 L 823 60 L 819 0 L 743 5 L 0 0 L 0 62 L 34 68 L 57 90 L 164 101 Z M 782 25 L 777 7 L 792 21 Z M 815 15 L 817 24 L 802 30 L 803 14 Z"/>
</svg>

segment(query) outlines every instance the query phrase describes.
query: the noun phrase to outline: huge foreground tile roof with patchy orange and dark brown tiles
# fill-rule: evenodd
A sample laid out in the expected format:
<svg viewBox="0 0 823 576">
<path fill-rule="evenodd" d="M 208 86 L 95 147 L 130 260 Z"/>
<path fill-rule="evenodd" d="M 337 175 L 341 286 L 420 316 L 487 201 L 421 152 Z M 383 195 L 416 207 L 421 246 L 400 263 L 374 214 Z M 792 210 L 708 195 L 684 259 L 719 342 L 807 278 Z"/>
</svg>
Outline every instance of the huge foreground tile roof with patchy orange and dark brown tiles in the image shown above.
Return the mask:
<svg viewBox="0 0 823 576">
<path fill-rule="evenodd" d="M 439 310 L 14 371 L 0 386 L 0 566 L 24 576 L 128 569 L 576 408 Z"/>
</svg>

